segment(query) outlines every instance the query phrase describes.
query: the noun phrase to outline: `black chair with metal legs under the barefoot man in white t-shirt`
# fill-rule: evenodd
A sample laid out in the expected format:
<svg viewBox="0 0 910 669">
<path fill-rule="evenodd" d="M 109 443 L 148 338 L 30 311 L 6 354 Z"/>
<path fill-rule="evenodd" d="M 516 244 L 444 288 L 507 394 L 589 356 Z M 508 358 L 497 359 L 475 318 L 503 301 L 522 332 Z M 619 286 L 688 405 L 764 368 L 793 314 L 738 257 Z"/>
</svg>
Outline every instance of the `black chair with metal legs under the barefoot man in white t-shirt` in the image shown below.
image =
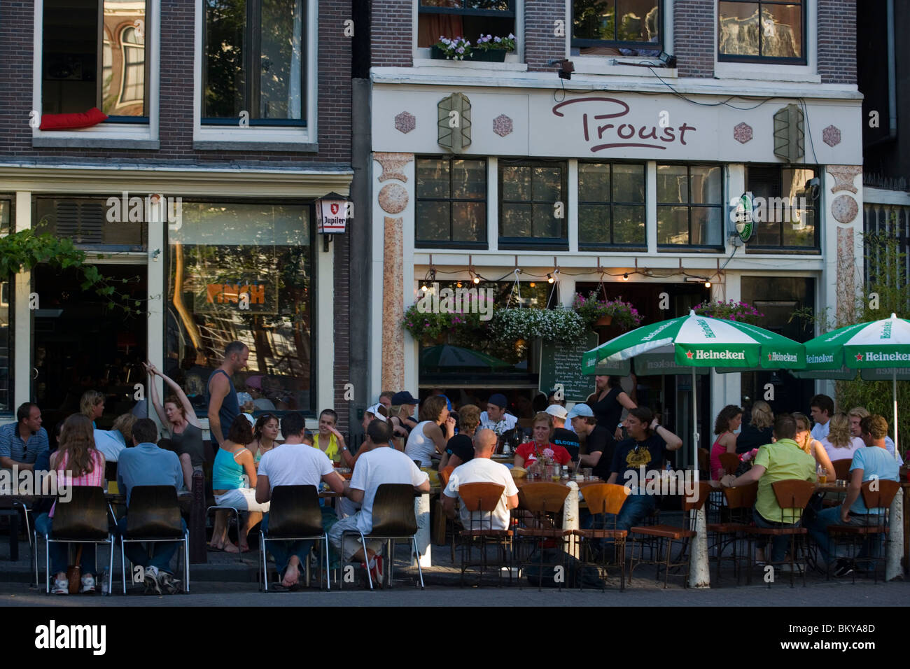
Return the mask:
<svg viewBox="0 0 910 669">
<path fill-rule="evenodd" d="M 322 565 L 325 564 L 326 587 L 329 583 L 329 535 L 322 528 L 322 511 L 319 507 L 319 490 L 315 485 L 278 485 L 272 488 L 268 507 L 268 530 L 259 532 L 259 556 L 262 559 L 262 582 L 268 593 L 268 557 L 266 542 L 308 541 L 321 542 L 319 548 L 319 589 L 322 588 Z M 325 555 L 325 563 L 322 556 Z M 309 583 L 309 561 L 306 564 Z"/>
</svg>

